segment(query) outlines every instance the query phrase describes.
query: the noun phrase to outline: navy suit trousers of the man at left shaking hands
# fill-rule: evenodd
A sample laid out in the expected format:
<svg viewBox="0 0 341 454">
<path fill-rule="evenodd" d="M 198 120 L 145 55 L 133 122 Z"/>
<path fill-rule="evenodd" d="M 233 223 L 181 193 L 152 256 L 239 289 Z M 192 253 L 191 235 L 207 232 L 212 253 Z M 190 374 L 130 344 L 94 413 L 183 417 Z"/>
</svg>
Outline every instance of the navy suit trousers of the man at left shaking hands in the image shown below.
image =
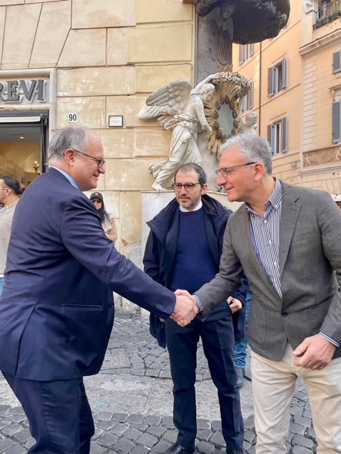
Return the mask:
<svg viewBox="0 0 341 454">
<path fill-rule="evenodd" d="M 30 454 L 89 454 L 94 421 L 82 378 L 38 382 L 3 372 L 30 423 Z"/>
</svg>

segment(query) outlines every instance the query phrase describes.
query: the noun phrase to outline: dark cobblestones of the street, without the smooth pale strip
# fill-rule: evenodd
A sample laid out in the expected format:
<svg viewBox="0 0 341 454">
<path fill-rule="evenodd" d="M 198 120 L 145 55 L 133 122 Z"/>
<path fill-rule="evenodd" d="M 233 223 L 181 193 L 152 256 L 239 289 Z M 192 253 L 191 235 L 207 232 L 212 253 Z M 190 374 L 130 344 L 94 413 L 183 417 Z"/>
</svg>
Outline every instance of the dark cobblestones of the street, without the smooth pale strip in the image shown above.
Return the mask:
<svg viewBox="0 0 341 454">
<path fill-rule="evenodd" d="M 201 345 L 198 346 L 197 358 L 197 380 L 210 380 Z M 117 314 L 100 374 L 131 375 L 140 377 L 140 380 L 151 380 L 152 377 L 154 386 L 164 380 L 171 384 L 168 353 L 159 348 L 149 335 L 148 319 L 124 312 Z M 3 386 L 4 380 L 1 380 L 0 388 Z M 96 432 L 92 440 L 92 454 L 160 454 L 176 441 L 177 433 L 171 414 L 115 413 L 97 406 L 93 413 Z M 256 435 L 253 416 L 244 419 L 244 423 L 244 448 L 247 453 L 254 454 Z M 220 421 L 198 419 L 197 429 L 198 453 L 224 453 Z M 21 406 L 0 404 L 0 454 L 24 454 L 33 444 Z M 288 453 L 292 454 L 316 452 L 310 405 L 301 380 L 297 382 L 291 406 L 286 445 Z"/>
</svg>

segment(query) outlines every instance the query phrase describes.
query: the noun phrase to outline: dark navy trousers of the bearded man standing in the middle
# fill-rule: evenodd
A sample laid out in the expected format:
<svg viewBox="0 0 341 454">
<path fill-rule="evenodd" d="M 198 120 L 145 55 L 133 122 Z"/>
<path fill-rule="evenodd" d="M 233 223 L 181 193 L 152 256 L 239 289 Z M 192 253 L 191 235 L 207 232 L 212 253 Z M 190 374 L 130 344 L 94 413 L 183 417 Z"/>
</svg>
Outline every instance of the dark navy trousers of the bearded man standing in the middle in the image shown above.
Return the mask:
<svg viewBox="0 0 341 454">
<path fill-rule="evenodd" d="M 202 338 L 212 381 L 218 390 L 224 441 L 229 449 L 242 449 L 244 423 L 234 369 L 231 317 L 217 321 L 195 320 L 185 328 L 171 319 L 166 320 L 166 338 L 174 384 L 173 421 L 179 432 L 177 443 L 192 446 L 197 434 L 195 369 L 199 337 Z"/>
</svg>

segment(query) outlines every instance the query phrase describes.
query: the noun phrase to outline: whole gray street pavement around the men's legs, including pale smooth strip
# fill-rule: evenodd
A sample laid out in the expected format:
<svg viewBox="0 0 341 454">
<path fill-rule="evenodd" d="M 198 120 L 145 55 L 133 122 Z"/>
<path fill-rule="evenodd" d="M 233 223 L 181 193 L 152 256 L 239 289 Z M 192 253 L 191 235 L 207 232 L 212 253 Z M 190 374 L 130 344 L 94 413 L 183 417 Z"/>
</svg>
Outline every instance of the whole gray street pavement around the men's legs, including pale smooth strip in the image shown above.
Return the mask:
<svg viewBox="0 0 341 454">
<path fill-rule="evenodd" d="M 158 347 L 148 328 L 148 317 L 119 309 L 102 370 L 85 377 L 96 426 L 92 454 L 160 454 L 176 441 L 168 353 Z M 240 390 L 244 448 L 253 454 L 256 433 L 249 365 L 246 374 L 248 380 Z M 217 389 L 210 380 L 200 344 L 196 395 L 196 450 L 201 454 L 223 454 Z M 33 444 L 23 409 L 0 375 L 0 454 L 24 454 Z M 286 445 L 288 453 L 316 452 L 310 405 L 301 380 L 296 384 Z"/>
</svg>

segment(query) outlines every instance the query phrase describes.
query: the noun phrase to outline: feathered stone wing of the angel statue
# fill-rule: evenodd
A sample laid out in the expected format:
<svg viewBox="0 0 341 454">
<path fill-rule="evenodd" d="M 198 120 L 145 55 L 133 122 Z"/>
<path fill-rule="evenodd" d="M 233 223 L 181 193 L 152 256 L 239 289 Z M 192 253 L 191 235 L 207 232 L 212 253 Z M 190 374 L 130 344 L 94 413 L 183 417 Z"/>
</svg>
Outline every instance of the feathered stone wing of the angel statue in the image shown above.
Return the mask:
<svg viewBox="0 0 341 454">
<path fill-rule="evenodd" d="M 178 79 L 156 90 L 148 96 L 146 106 L 139 111 L 139 120 L 158 118 L 158 121 L 165 126 L 170 119 L 168 117 L 181 114 L 190 100 L 192 89 L 192 84 L 188 79 Z"/>
</svg>

